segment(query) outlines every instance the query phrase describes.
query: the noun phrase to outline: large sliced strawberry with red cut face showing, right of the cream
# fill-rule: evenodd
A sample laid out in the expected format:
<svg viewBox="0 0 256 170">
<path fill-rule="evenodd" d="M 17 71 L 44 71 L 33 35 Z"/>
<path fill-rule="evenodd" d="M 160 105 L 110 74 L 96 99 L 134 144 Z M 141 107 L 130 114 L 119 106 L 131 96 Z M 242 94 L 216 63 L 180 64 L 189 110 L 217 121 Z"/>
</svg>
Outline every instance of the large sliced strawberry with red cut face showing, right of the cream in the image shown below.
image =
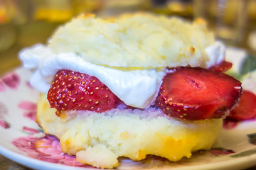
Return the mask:
<svg viewBox="0 0 256 170">
<path fill-rule="evenodd" d="M 164 77 L 156 104 L 176 118 L 221 118 L 238 102 L 241 91 L 240 81 L 227 74 L 181 67 Z"/>
</svg>

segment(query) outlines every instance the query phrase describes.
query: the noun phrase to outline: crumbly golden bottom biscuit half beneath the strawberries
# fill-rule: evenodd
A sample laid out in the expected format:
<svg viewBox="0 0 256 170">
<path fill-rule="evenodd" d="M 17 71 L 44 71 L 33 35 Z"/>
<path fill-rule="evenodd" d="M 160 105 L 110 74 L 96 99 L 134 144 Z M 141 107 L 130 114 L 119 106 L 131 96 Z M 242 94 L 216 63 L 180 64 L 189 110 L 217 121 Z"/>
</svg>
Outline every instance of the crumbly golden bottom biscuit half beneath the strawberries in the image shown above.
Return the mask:
<svg viewBox="0 0 256 170">
<path fill-rule="evenodd" d="M 222 128 L 222 119 L 177 120 L 157 108 L 63 111 L 60 117 L 55 111 L 41 94 L 37 122 L 44 132 L 58 137 L 63 152 L 76 155 L 79 162 L 107 169 L 118 166 L 118 157 L 189 158 L 191 152 L 210 149 Z"/>
</svg>

